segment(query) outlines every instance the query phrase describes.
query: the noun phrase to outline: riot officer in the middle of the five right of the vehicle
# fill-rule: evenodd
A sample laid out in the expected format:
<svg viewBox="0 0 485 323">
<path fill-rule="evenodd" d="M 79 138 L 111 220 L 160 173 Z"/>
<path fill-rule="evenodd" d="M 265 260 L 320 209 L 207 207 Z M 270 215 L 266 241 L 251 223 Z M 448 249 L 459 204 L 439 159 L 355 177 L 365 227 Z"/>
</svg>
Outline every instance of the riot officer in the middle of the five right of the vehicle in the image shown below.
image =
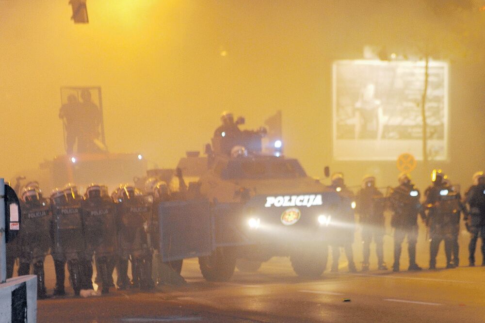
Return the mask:
<svg viewBox="0 0 485 323">
<path fill-rule="evenodd" d="M 391 226 L 394 228 L 394 264 L 392 271 L 399 272 L 401 245 L 407 236 L 407 250 L 409 254 L 408 270 L 419 271 L 422 268 L 416 264 L 416 242 L 418 240 L 418 213 L 425 220 L 421 210 L 420 191 L 411 183 L 407 174 L 398 178 L 399 186 L 392 189 L 389 196 L 390 207 L 394 211 Z"/>
</svg>

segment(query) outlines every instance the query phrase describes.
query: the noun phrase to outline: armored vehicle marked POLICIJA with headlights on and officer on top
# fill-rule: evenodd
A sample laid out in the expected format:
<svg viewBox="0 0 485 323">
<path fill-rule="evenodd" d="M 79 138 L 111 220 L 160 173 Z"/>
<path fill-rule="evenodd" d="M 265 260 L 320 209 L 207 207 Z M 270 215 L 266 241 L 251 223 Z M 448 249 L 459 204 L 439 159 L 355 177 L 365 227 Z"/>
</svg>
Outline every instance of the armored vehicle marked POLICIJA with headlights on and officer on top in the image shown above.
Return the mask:
<svg viewBox="0 0 485 323">
<path fill-rule="evenodd" d="M 255 271 L 274 256 L 289 256 L 297 275 L 322 275 L 340 197 L 296 159 L 263 154 L 264 133 L 229 120 L 215 131 L 207 156 L 191 153 L 180 161 L 181 173 L 198 180 L 183 183 L 179 201 L 158 206 L 164 261 L 198 257 L 207 280 L 224 281 L 236 263 Z"/>
</svg>

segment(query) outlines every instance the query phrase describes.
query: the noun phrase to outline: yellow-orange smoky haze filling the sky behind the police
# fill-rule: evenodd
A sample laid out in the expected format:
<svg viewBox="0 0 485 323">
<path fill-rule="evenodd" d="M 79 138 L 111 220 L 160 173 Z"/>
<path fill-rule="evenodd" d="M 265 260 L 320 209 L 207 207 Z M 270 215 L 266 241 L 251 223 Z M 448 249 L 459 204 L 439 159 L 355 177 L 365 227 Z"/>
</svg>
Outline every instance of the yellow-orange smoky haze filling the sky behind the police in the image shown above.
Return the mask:
<svg viewBox="0 0 485 323">
<path fill-rule="evenodd" d="M 149 167 L 202 150 L 223 111 L 258 128 L 281 110 L 285 155 L 309 175 L 395 184 L 394 161 L 332 156 L 332 63 L 374 46 L 449 62 L 449 158 L 414 177 L 436 166 L 468 186 L 485 160 L 481 2 L 87 0 L 74 24 L 68 0 L 0 0 L 0 176 L 64 154 L 60 88 L 100 86 L 109 150 Z"/>
</svg>

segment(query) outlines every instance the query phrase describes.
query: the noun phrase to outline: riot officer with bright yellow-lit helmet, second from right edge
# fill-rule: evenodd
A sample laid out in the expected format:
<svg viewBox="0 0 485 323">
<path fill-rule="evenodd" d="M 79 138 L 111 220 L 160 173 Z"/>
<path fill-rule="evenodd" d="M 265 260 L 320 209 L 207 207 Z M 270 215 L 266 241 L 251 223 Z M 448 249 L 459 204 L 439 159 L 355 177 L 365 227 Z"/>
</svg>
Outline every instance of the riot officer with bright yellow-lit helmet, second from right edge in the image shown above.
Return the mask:
<svg viewBox="0 0 485 323">
<path fill-rule="evenodd" d="M 455 268 L 452 261 L 453 228 L 456 212 L 459 212 L 459 195 L 451 192 L 445 182 L 446 176 L 441 170 L 432 173 L 433 184 L 424 195 L 424 207 L 428 210 L 426 224 L 430 233 L 429 268 L 436 269 L 436 256 L 441 241 L 445 241 L 446 268 Z"/>
</svg>

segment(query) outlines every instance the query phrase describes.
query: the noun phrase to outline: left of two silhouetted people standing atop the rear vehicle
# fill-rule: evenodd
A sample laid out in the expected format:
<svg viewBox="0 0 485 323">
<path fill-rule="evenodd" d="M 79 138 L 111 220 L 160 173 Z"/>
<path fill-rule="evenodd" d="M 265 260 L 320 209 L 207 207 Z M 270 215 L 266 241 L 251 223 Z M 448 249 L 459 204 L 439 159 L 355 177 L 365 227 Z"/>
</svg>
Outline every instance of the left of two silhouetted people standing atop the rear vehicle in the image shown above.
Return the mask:
<svg viewBox="0 0 485 323">
<path fill-rule="evenodd" d="M 63 104 L 59 111 L 59 118 L 63 119 L 66 131 L 65 151 L 68 155 L 73 153 L 76 139 L 78 140 L 79 146 L 79 137 L 81 134 L 80 109 L 78 98 L 71 94 L 67 97 L 67 103 Z"/>
</svg>

